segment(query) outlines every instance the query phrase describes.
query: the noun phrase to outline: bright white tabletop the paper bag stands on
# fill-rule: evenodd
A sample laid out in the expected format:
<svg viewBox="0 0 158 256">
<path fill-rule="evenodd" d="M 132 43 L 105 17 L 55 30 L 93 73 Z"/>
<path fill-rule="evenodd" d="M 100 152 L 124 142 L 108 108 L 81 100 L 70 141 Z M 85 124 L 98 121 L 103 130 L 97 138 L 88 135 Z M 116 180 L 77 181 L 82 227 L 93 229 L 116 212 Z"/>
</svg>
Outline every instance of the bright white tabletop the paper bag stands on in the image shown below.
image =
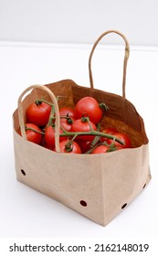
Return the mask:
<svg viewBox="0 0 158 256">
<path fill-rule="evenodd" d="M 12 113 L 27 86 L 71 79 L 89 86 L 91 46 L 0 44 L 0 237 L 157 237 L 157 48 L 132 48 L 127 99 L 142 115 L 150 140 L 153 179 L 142 194 L 103 228 L 16 181 Z M 121 94 L 123 49 L 99 47 L 92 59 L 94 85 Z"/>
</svg>

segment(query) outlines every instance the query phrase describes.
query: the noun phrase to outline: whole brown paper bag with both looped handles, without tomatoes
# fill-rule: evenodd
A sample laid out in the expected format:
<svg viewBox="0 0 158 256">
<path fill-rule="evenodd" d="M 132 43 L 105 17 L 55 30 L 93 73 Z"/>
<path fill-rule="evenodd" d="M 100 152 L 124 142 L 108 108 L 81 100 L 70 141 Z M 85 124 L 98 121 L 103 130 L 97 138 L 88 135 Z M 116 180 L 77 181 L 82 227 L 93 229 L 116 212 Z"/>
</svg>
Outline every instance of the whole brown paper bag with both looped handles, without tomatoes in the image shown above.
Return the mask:
<svg viewBox="0 0 158 256">
<path fill-rule="evenodd" d="M 102 37 L 117 33 L 126 43 L 122 97 L 113 93 L 95 90 L 91 74 L 92 53 Z M 81 215 L 106 226 L 123 208 L 139 195 L 151 179 L 149 170 L 148 138 L 142 117 L 130 101 L 125 99 L 126 65 L 129 56 L 127 39 L 118 31 L 107 31 L 94 44 L 90 54 L 90 88 L 77 85 L 72 80 L 60 80 L 45 86 L 31 86 L 18 100 L 14 112 L 14 146 L 17 180 L 52 197 Z M 30 94 L 22 101 L 27 91 Z M 56 96 L 60 98 L 59 103 Z M 68 155 L 59 153 L 59 107 L 74 104 L 84 96 L 92 96 L 105 102 L 110 108 L 103 118 L 104 126 L 117 127 L 132 139 L 132 148 L 99 155 Z M 52 152 L 41 145 L 26 140 L 26 108 L 45 96 L 53 101 L 56 109 L 56 148 Z M 22 136 L 18 134 L 21 127 Z"/>
</svg>

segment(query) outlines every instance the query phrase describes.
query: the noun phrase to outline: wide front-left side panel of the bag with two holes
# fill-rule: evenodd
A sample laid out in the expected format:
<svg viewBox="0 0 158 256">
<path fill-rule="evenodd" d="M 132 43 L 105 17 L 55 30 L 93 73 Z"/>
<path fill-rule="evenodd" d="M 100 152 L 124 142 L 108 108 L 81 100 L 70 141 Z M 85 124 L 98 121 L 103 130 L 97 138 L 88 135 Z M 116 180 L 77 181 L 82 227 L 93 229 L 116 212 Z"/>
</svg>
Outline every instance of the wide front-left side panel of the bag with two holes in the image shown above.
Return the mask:
<svg viewBox="0 0 158 256">
<path fill-rule="evenodd" d="M 100 225 L 104 224 L 102 176 L 98 157 L 55 153 L 25 141 L 15 131 L 14 141 L 18 181 Z"/>
</svg>

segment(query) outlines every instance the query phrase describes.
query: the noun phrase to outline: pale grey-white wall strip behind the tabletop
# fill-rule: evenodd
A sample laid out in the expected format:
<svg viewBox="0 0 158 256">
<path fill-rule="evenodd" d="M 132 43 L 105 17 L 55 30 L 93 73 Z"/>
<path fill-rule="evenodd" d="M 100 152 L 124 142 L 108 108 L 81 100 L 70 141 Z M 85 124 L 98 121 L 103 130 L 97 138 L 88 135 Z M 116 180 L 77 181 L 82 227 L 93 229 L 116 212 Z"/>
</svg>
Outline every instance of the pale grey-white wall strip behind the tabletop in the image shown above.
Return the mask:
<svg viewBox="0 0 158 256">
<path fill-rule="evenodd" d="M 158 46 L 157 10 L 156 0 L 0 0 L 0 40 L 93 43 L 115 28 L 132 45 Z"/>
</svg>

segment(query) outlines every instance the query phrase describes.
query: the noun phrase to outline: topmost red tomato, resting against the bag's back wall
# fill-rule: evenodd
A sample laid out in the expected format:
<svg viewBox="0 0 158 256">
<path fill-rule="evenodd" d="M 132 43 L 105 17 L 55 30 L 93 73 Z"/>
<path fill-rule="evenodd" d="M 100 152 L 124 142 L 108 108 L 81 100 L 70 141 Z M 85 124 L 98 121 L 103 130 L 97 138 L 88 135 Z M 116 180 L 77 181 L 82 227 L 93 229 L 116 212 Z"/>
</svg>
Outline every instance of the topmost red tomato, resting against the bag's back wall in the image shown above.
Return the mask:
<svg viewBox="0 0 158 256">
<path fill-rule="evenodd" d="M 100 123 L 103 114 L 102 110 L 100 109 L 99 102 L 89 96 L 81 98 L 77 102 L 75 111 L 76 119 L 79 119 L 83 116 L 83 114 L 86 114 L 89 116 L 90 121 L 95 124 Z"/>
</svg>

